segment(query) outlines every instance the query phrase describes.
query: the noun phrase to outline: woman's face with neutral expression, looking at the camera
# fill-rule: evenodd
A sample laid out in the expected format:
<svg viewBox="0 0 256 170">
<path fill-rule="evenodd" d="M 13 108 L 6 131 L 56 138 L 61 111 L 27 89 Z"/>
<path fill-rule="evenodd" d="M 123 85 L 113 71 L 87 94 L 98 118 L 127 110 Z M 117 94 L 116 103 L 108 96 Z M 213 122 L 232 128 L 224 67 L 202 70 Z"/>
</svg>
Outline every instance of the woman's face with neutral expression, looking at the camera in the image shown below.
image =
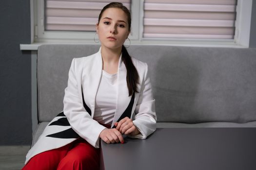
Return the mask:
<svg viewBox="0 0 256 170">
<path fill-rule="evenodd" d="M 101 46 L 110 49 L 122 47 L 130 33 L 127 16 L 119 8 L 106 9 L 97 23 L 96 29 Z"/>
</svg>

